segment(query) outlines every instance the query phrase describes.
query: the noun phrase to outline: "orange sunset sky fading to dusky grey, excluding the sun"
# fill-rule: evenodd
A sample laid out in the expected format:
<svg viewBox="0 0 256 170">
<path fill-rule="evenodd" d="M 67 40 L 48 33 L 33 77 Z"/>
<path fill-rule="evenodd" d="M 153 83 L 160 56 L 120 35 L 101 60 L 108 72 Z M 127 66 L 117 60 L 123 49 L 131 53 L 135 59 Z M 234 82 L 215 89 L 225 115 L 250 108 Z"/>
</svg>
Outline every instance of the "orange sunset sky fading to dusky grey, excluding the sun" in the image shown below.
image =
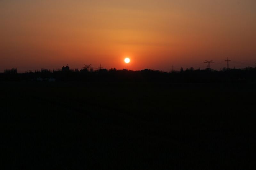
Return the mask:
<svg viewBox="0 0 256 170">
<path fill-rule="evenodd" d="M 0 70 L 254 66 L 255 0 L 0 0 Z M 125 64 L 124 58 L 131 58 Z"/>
</svg>

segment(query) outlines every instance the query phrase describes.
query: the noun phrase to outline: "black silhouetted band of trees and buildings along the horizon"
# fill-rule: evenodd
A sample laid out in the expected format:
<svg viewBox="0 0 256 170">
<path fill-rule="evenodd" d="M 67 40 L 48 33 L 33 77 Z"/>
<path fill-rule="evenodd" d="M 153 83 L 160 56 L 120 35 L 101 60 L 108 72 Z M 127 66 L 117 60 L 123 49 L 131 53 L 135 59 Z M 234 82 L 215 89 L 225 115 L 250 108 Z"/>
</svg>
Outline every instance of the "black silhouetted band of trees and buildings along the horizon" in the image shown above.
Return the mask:
<svg viewBox="0 0 256 170">
<path fill-rule="evenodd" d="M 16 68 L 0 73 L 0 81 L 37 81 L 37 78 L 56 81 L 106 81 L 106 82 L 256 82 L 256 67 L 244 69 L 213 69 L 183 68 L 180 71 L 162 72 L 144 69 L 140 71 L 117 70 L 116 68 L 87 70 L 87 69 L 57 69 L 42 68 L 36 71 L 17 73 Z"/>
</svg>

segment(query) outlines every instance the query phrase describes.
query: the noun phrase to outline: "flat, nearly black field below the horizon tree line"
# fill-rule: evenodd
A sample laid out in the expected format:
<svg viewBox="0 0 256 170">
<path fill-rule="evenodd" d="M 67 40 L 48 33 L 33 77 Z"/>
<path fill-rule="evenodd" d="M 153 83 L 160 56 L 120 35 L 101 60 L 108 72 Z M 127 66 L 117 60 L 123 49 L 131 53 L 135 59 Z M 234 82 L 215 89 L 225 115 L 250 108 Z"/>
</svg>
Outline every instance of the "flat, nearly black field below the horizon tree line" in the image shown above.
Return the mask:
<svg viewBox="0 0 256 170">
<path fill-rule="evenodd" d="M 1 166 L 250 169 L 255 95 L 256 84 L 0 82 Z"/>
</svg>

